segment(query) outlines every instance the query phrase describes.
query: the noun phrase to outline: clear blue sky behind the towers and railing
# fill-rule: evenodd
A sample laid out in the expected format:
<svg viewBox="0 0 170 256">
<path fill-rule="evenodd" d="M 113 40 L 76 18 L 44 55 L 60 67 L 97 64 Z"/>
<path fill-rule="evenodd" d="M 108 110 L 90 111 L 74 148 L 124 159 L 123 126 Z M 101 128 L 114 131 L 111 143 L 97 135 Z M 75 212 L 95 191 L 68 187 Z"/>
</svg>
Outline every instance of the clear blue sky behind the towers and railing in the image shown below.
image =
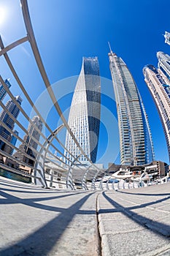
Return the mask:
<svg viewBox="0 0 170 256">
<path fill-rule="evenodd" d="M 150 121 L 155 159 L 169 162 L 161 121 L 144 83 L 142 68 L 146 64 L 153 64 L 157 67 L 156 52 L 159 50 L 170 54 L 170 46 L 164 43 L 162 35 L 164 31 L 170 31 L 170 1 L 28 0 L 28 7 L 50 83 L 53 84 L 60 80 L 69 81 L 66 88 L 70 96 L 67 95 L 65 99 L 60 99 L 57 95 L 61 109 L 68 112 L 74 89 L 74 83 L 70 82 L 70 77 L 80 74 L 82 56 L 98 56 L 101 77 L 111 79 L 107 44 L 109 41 L 112 50 L 128 65 L 142 95 Z M 0 18 L 0 33 L 4 45 L 26 36 L 19 0 L 0 0 L 0 17 L 1 13 L 4 18 L 3 20 Z M 36 69 L 28 42 L 11 50 L 9 56 L 28 93 L 36 101 L 45 90 L 45 86 Z M 12 92 L 20 94 L 17 83 L 12 78 L 2 57 L 0 67 L 2 77 L 11 78 Z M 118 154 L 112 83 L 106 81 L 104 80 L 101 91 L 107 94 L 102 97 L 104 113 L 107 115 L 104 115 L 105 119 L 102 116 L 103 124 L 98 150 L 98 161 L 103 161 L 105 164 L 115 162 Z M 72 86 L 69 86 L 71 83 Z M 56 84 L 56 94 L 60 94 L 62 86 Z M 23 108 L 27 108 L 28 112 L 31 111 L 24 97 Z M 48 121 L 52 127 L 56 127 L 58 121 L 53 120 L 52 113 L 53 110 Z M 114 119 L 112 125 L 108 124 L 110 117 Z M 109 128 L 108 125 L 110 125 Z M 107 148 L 108 140 L 111 142 L 109 142 L 109 148 Z M 102 158 L 105 151 L 107 151 L 107 156 Z"/>
</svg>

